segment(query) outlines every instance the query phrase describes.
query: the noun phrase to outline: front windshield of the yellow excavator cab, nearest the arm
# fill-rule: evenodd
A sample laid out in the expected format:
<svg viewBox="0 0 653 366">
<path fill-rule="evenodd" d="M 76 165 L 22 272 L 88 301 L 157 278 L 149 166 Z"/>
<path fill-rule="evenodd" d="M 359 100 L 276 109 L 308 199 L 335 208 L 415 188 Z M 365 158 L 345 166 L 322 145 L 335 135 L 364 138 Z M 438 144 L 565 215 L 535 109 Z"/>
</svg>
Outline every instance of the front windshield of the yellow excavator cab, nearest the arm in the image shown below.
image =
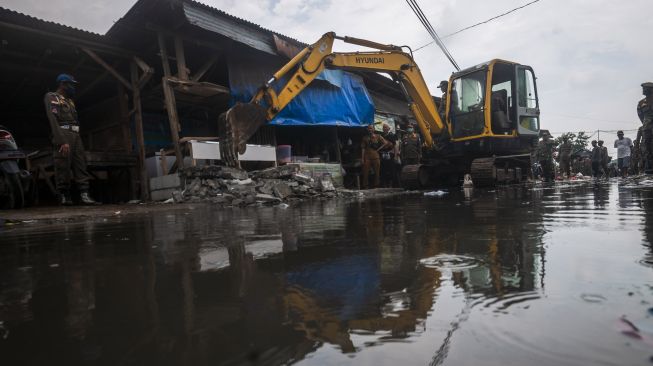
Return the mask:
<svg viewBox="0 0 653 366">
<path fill-rule="evenodd" d="M 486 70 L 479 70 L 453 80 L 450 120 L 453 137 L 483 133 Z"/>
</svg>

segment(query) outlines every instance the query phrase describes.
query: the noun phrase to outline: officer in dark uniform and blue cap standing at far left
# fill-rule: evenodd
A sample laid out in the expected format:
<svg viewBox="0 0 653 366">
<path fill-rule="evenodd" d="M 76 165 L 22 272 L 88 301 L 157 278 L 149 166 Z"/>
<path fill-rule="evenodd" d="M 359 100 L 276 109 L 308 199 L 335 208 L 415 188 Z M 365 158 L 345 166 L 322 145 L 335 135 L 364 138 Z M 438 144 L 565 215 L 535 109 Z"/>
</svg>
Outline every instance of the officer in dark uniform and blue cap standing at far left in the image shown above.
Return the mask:
<svg viewBox="0 0 653 366">
<path fill-rule="evenodd" d="M 70 181 L 74 180 L 83 204 L 97 204 L 88 194 L 90 175 L 86 170 L 84 145 L 72 97 L 77 81 L 71 75 L 57 76 L 57 90 L 45 95 L 45 111 L 52 129 L 54 173 L 59 203 L 72 205 Z"/>
</svg>

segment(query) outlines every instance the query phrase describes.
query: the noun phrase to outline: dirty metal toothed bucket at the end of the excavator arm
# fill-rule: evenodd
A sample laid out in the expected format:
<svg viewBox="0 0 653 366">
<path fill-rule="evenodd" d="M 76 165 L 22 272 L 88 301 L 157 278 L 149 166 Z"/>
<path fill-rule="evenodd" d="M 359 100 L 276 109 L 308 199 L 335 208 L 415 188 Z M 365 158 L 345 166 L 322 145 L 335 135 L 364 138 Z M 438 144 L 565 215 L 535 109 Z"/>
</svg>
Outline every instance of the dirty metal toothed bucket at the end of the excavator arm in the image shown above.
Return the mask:
<svg viewBox="0 0 653 366">
<path fill-rule="evenodd" d="M 238 165 L 249 140 L 267 122 L 266 110 L 254 103 L 237 103 L 218 117 L 220 157 L 227 166 Z"/>
</svg>

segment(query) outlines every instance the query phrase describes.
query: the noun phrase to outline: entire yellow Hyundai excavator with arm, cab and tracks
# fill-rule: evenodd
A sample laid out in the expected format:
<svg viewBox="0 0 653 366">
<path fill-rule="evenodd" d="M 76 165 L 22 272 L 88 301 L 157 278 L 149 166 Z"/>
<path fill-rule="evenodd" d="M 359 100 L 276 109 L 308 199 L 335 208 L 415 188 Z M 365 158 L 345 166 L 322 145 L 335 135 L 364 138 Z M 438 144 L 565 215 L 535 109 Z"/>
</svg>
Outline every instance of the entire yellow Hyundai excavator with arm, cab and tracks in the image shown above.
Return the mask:
<svg viewBox="0 0 653 366">
<path fill-rule="evenodd" d="M 332 52 L 342 40 L 378 51 Z M 422 164 L 403 169 L 404 185 L 454 183 L 471 172 L 477 185 L 520 181 L 530 170 L 539 133 L 535 75 L 529 66 L 492 60 L 453 74 L 444 121 L 426 82 L 404 48 L 326 33 L 277 71 L 247 104 L 219 118 L 222 159 L 235 165 L 247 140 L 324 69 L 389 74 L 404 92 L 424 143 Z"/>
</svg>

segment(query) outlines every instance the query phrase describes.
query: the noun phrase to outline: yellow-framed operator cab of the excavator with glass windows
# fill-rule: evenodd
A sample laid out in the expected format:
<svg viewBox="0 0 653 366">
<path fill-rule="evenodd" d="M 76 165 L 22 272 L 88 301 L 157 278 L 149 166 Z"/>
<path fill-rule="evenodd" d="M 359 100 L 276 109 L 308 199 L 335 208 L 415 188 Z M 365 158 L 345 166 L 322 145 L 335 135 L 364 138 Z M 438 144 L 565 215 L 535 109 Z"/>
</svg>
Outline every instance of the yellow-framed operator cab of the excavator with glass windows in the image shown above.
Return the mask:
<svg viewBox="0 0 653 366">
<path fill-rule="evenodd" d="M 446 121 L 452 141 L 537 136 L 535 74 L 530 66 L 492 60 L 451 76 Z"/>
</svg>

